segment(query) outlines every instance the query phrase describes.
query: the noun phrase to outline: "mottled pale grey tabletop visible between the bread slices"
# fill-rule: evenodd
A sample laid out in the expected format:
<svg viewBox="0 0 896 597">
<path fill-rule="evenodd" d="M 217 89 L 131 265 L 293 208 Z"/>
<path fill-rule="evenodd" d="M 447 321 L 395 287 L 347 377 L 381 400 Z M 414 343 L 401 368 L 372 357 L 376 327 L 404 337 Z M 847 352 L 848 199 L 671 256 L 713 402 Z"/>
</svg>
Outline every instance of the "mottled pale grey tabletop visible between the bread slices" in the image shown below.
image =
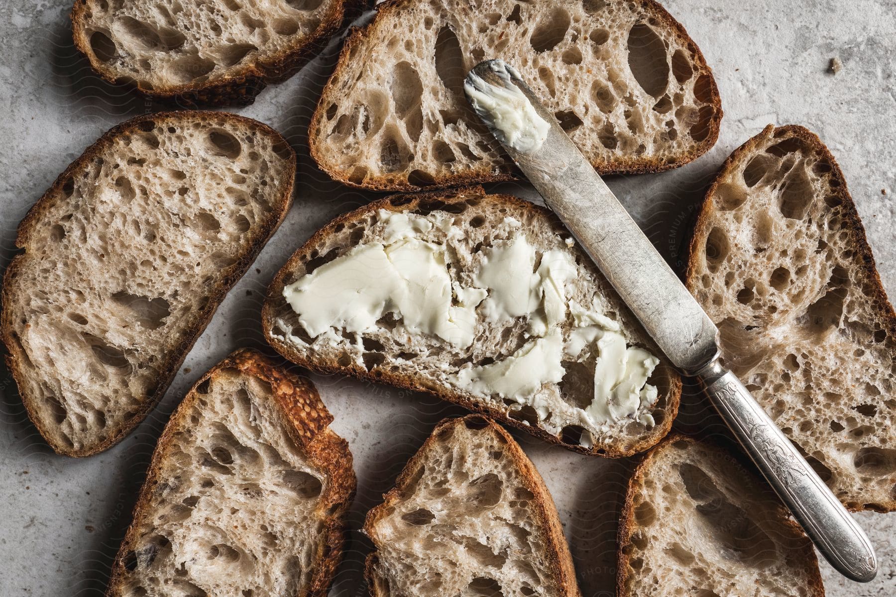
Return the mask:
<svg viewBox="0 0 896 597">
<path fill-rule="evenodd" d="M 666 0 L 711 64 L 725 109 L 718 144 L 662 175 L 617 177 L 611 186 L 673 263 L 678 263 L 702 193 L 728 153 L 765 124 L 804 124 L 840 162 L 865 222 L 883 284 L 896 294 L 896 5 L 890 0 Z M 69 162 L 101 132 L 157 109 L 90 73 L 72 47 L 64 0 L 0 6 L 0 210 L 2 257 L 15 226 Z M 271 124 L 297 149 L 297 196 L 284 225 L 221 305 L 159 408 L 121 444 L 75 460 L 54 455 L 28 422 L 14 384 L 0 388 L 0 595 L 100 595 L 134 505 L 154 439 L 198 376 L 237 346 L 263 346 L 263 289 L 288 255 L 336 214 L 370 195 L 330 182 L 308 158 L 306 125 L 338 45 L 289 81 L 239 110 Z M 837 56 L 837 74 L 827 72 Z M 523 185 L 505 191 L 531 197 Z M 886 190 L 886 194 L 882 192 Z M 270 349 L 267 349 L 270 352 Z M 349 439 L 358 472 L 347 560 L 332 594 L 364 594 L 358 532 L 432 425 L 460 410 L 434 398 L 338 377 L 314 378 Z M 518 435 L 519 437 L 519 435 Z M 545 476 L 564 521 L 586 597 L 614 593 L 616 518 L 633 461 L 607 461 L 521 437 Z M 896 593 L 896 514 L 857 515 L 877 548 L 871 584 L 846 581 L 823 564 L 836 597 Z"/>
</svg>

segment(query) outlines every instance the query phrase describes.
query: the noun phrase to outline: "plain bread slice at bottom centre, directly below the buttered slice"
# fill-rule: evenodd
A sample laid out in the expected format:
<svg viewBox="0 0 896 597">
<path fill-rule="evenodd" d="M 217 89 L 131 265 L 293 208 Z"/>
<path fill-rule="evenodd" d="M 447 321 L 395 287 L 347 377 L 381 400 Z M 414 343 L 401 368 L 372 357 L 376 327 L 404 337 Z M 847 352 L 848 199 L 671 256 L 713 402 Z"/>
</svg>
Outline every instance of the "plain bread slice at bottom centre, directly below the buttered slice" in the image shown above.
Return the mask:
<svg viewBox="0 0 896 597">
<path fill-rule="evenodd" d="M 579 597 L 554 500 L 495 422 L 446 419 L 367 514 L 373 597 Z"/>
</svg>

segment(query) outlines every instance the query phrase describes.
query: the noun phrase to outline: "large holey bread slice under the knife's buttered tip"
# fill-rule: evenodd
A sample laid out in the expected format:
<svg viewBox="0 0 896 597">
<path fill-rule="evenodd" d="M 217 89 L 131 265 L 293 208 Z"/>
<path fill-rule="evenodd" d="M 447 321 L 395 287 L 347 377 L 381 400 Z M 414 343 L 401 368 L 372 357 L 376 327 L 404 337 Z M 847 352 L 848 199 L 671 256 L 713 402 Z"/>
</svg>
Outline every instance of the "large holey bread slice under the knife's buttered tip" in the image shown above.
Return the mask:
<svg viewBox="0 0 896 597">
<path fill-rule="evenodd" d="M 653 0 L 390 0 L 346 41 L 311 121 L 312 156 L 379 190 L 517 177 L 464 98 L 486 58 L 519 69 L 601 174 L 681 166 L 718 137 L 710 68 Z"/>
</svg>

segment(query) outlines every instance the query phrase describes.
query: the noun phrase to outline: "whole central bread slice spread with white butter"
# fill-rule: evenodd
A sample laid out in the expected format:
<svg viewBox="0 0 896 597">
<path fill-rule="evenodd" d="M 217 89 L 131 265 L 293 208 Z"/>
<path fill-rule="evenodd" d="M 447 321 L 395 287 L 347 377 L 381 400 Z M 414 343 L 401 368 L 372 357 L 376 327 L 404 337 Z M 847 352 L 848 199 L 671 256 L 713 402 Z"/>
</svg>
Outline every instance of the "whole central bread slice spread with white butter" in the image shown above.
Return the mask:
<svg viewBox="0 0 896 597">
<path fill-rule="evenodd" d="M 280 354 L 424 390 L 587 454 L 649 448 L 681 380 L 546 209 L 481 188 L 337 218 L 263 306 Z"/>
</svg>

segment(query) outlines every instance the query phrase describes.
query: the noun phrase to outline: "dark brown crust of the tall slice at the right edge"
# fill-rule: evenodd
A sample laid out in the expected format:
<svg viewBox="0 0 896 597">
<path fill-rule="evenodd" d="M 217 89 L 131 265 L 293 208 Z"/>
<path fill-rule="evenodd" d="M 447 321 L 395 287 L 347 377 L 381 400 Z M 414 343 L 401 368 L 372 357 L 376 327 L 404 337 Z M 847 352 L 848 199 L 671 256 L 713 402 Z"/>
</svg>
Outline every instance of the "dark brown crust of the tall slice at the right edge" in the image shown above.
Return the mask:
<svg viewBox="0 0 896 597">
<path fill-rule="evenodd" d="M 715 201 L 712 199 L 719 187 L 719 183 L 726 175 L 728 175 L 730 170 L 737 167 L 741 160 L 743 160 L 745 156 L 750 155 L 760 143 L 766 141 L 771 136 L 783 135 L 788 135 L 790 137 L 795 137 L 800 141 L 804 141 L 806 146 L 821 153 L 824 158 L 830 162 L 831 176 L 834 180 L 840 182 L 840 184 L 837 187 L 832 188 L 831 191 L 840 200 L 840 209 L 842 209 L 843 212 L 843 227 L 848 228 L 853 232 L 854 249 L 861 261 L 859 267 L 862 269 L 862 274 L 870 282 L 868 288 L 871 289 L 872 294 L 868 296 L 868 300 L 881 305 L 881 311 L 878 313 L 878 317 L 883 321 L 887 333 L 892 337 L 896 337 L 896 311 L 893 311 L 892 303 L 890 303 L 886 291 L 883 289 L 880 274 L 877 272 L 877 267 L 874 263 L 874 255 L 871 252 L 871 247 L 868 245 L 865 226 L 862 225 L 862 218 L 858 215 L 856 203 L 852 200 L 852 195 L 849 194 L 843 171 L 840 170 L 840 166 L 837 164 L 837 160 L 834 159 L 833 154 L 831 154 L 831 150 L 827 148 L 818 135 L 798 124 L 787 124 L 777 128 L 774 125 L 769 124 L 758 135 L 752 137 L 743 145 L 735 149 L 731 155 L 728 156 L 728 159 L 725 160 L 725 163 L 719 170 L 719 175 L 716 176 L 716 180 L 712 183 L 709 191 L 706 192 L 706 197 L 703 200 L 700 214 L 697 216 L 697 221 L 694 225 L 694 235 L 691 237 L 689 247 L 685 285 L 693 294 L 694 288 L 696 287 L 697 257 L 701 252 L 701 247 L 705 246 L 706 236 L 709 235 L 710 218 L 716 211 Z M 843 500 L 843 505 L 853 512 L 873 510 L 874 512 L 886 513 L 896 510 L 896 499 L 874 504 L 865 504 L 859 501 L 845 499 Z"/>
</svg>

